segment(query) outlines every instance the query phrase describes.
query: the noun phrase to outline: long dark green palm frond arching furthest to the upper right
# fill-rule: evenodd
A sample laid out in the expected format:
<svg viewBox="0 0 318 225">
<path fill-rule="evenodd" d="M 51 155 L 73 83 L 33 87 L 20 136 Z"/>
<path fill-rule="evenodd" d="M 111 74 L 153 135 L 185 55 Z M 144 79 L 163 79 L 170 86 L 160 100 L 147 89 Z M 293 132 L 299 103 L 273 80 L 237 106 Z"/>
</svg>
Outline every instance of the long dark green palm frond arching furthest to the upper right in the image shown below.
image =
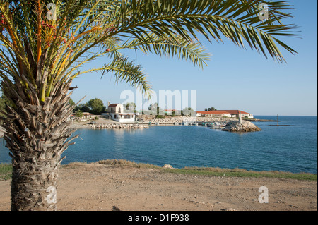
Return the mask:
<svg viewBox="0 0 318 225">
<path fill-rule="evenodd" d="M 269 6 L 269 19 L 259 19 L 259 4 Z M 283 62 L 283 55 L 277 51 L 280 45 L 291 53 L 296 51 L 276 42 L 274 36 L 293 36 L 293 25 L 283 25 L 281 20 L 290 17 L 288 11 L 291 6 L 283 1 L 237 1 L 237 0 L 206 0 L 206 1 L 178 1 L 178 0 L 146 0 L 125 1 L 129 17 L 123 20 L 118 32 L 133 34 L 136 38 L 143 37 L 150 31 L 156 35 L 168 35 L 174 38 L 180 35 L 187 41 L 197 38 L 197 33 L 204 35 L 211 41 L 223 41 L 223 37 L 230 39 L 237 46 L 245 47 L 245 43 L 252 49 L 268 53 Z M 127 13 L 128 14 L 128 13 Z M 244 41 L 243 41 L 244 40 Z M 260 41 L 261 40 L 261 41 Z M 267 56 L 266 56 L 267 57 Z"/>
</svg>

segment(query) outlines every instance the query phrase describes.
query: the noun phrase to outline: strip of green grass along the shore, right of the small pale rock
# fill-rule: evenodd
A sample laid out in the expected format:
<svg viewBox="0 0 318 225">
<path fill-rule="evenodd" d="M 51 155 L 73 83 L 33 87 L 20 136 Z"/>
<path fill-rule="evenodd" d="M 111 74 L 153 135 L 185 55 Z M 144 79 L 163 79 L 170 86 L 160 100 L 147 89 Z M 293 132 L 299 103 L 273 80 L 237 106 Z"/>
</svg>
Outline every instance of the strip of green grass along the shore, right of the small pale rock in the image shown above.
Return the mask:
<svg viewBox="0 0 318 225">
<path fill-rule="evenodd" d="M 234 177 L 269 177 L 286 178 L 305 181 L 317 181 L 317 174 L 293 174 L 282 171 L 247 171 L 245 169 L 220 169 L 211 167 L 184 167 L 183 169 L 165 169 L 173 174 L 196 174 L 204 176 L 234 176 Z"/>
</svg>

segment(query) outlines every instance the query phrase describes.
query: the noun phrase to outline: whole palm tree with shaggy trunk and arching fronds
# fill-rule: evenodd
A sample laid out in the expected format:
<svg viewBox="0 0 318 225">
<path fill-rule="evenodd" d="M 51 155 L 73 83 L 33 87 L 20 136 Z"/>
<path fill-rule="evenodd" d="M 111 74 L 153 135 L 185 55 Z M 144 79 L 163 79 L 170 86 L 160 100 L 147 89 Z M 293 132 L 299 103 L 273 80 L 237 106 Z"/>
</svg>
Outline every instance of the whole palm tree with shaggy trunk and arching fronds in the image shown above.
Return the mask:
<svg viewBox="0 0 318 225">
<path fill-rule="evenodd" d="M 269 6 L 261 20 L 260 4 Z M 0 0 L 0 76 L 6 147 L 13 165 L 12 210 L 56 210 L 61 154 L 73 144 L 72 80 L 101 71 L 151 95 L 141 66 L 122 49 L 177 56 L 203 68 L 198 34 L 226 37 L 283 62 L 279 36 L 291 36 L 290 6 L 261 0 Z M 81 71 L 105 57 L 105 65 Z M 266 56 L 267 57 L 267 56 Z"/>
</svg>

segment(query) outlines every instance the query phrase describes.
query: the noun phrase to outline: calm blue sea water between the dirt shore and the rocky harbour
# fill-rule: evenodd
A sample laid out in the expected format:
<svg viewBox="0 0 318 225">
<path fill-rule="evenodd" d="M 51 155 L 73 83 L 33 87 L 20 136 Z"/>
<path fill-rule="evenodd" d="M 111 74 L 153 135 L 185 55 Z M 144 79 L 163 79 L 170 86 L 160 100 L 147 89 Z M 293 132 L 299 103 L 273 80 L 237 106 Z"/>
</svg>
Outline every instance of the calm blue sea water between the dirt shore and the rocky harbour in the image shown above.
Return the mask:
<svg viewBox="0 0 318 225">
<path fill-rule="evenodd" d="M 276 116 L 255 116 L 276 119 Z M 62 164 L 127 159 L 175 168 L 212 166 L 255 171 L 317 174 L 317 116 L 280 116 L 276 122 L 254 122 L 262 131 L 228 133 L 201 126 L 152 126 L 146 130 L 86 130 L 69 147 Z M 1 140 L 1 139 L 0 139 Z M 11 162 L 0 145 L 0 163 Z"/>
</svg>

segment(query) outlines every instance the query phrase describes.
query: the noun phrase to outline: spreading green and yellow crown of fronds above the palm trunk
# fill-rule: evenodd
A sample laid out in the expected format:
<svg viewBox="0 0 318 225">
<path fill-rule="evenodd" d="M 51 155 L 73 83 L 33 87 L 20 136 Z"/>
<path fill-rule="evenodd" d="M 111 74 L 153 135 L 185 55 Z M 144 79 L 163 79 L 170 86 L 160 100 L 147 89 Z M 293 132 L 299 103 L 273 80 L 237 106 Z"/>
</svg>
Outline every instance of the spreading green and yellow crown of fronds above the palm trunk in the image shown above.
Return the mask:
<svg viewBox="0 0 318 225">
<path fill-rule="evenodd" d="M 203 68 L 208 54 L 200 45 L 199 34 L 210 42 L 230 39 L 239 47 L 256 49 L 278 62 L 285 61 L 281 49 L 296 53 L 279 39 L 295 36 L 295 26 L 283 23 L 292 16 L 292 6 L 284 1 L 0 0 L 0 3 L 4 20 L 0 25 L 0 47 L 6 49 L 5 54 L 0 54 L 3 63 L 0 75 L 19 81 L 27 89 L 32 85 L 41 101 L 51 95 L 52 87 L 60 80 L 75 78 L 78 73 L 71 72 L 89 61 L 102 56 L 110 61 L 126 59 L 120 57 L 121 49 L 177 56 Z M 46 17 L 49 3 L 57 6 L 57 20 Z M 268 20 L 260 20 L 260 4 L 268 5 Z"/>
</svg>

